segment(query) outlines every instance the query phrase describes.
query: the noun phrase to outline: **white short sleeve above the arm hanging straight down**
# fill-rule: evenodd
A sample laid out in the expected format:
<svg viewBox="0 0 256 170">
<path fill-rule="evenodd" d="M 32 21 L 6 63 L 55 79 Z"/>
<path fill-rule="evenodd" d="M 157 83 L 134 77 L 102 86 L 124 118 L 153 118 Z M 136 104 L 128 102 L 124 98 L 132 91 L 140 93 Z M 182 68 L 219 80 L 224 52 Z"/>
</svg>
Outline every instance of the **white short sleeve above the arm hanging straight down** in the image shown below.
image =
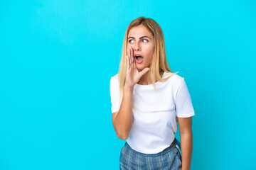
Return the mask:
<svg viewBox="0 0 256 170">
<path fill-rule="evenodd" d="M 188 118 L 195 115 L 191 96 L 188 92 L 188 87 L 186 86 L 186 82 L 183 77 L 176 91 L 175 106 L 176 115 L 178 118 Z"/>
</svg>

